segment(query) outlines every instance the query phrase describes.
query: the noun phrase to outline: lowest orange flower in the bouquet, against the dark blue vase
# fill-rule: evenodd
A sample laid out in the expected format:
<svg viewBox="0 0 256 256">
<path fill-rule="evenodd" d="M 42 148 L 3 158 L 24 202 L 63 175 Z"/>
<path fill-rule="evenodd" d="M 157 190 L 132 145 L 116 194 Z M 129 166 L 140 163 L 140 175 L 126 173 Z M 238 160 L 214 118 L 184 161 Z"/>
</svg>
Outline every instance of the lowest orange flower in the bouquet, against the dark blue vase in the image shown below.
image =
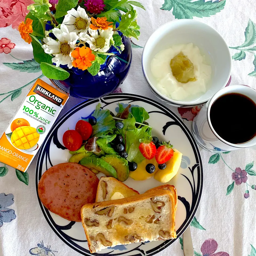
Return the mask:
<svg viewBox="0 0 256 256">
<path fill-rule="evenodd" d="M 72 65 L 82 70 L 90 67 L 92 65 L 91 62 L 95 60 L 95 55 L 91 53 L 91 49 L 85 46 L 75 48 L 71 55 L 75 58 Z"/>
</svg>

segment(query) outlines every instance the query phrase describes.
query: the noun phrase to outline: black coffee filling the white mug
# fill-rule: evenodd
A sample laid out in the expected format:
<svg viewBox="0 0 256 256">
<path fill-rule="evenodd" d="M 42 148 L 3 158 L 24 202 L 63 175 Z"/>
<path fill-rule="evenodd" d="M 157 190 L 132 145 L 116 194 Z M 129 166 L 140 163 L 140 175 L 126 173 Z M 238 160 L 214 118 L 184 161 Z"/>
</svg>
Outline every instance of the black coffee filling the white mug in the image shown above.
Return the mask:
<svg viewBox="0 0 256 256">
<path fill-rule="evenodd" d="M 244 143 L 256 136 L 255 103 L 245 95 L 228 93 L 211 106 L 210 119 L 216 133 L 230 143 Z"/>
</svg>

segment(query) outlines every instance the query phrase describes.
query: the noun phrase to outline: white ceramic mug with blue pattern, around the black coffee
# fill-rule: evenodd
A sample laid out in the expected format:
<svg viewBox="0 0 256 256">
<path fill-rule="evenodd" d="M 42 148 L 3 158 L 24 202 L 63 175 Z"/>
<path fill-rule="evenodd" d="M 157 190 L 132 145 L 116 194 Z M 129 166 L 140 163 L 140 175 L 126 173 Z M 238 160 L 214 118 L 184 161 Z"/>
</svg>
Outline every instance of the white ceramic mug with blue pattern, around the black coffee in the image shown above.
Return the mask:
<svg viewBox="0 0 256 256">
<path fill-rule="evenodd" d="M 245 95 L 256 103 L 256 90 L 252 89 L 251 87 L 244 85 L 231 85 L 224 87 L 213 95 L 213 97 L 202 107 L 197 116 L 194 118 L 192 123 L 192 134 L 197 143 L 203 149 L 210 152 L 225 152 L 246 147 L 253 147 L 256 149 L 256 137 L 244 143 L 234 144 L 225 141 L 214 130 L 210 118 L 211 106 L 215 100 L 228 93 L 239 93 Z M 239 106 L 239 102 L 237 104 L 238 107 L 242 107 Z M 239 122 L 239 120 L 237 121 Z"/>
</svg>

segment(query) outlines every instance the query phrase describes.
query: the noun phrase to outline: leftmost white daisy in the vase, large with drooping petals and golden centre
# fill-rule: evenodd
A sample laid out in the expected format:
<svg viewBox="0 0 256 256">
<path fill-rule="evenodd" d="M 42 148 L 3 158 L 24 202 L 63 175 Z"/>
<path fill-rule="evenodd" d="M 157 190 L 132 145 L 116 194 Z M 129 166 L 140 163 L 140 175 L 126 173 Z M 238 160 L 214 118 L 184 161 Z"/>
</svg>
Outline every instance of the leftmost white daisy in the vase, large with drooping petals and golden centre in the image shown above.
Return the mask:
<svg viewBox="0 0 256 256">
<path fill-rule="evenodd" d="M 70 53 L 75 49 L 75 44 L 78 40 L 78 35 L 75 32 L 69 33 L 65 24 L 61 24 L 61 28 L 54 28 L 52 33 L 57 37 L 54 40 L 51 37 L 46 37 L 43 39 L 45 45 L 42 45 L 45 53 L 53 54 L 54 58 L 51 59 L 52 62 L 56 63 L 56 66 L 67 65 L 69 69 L 72 66 L 72 57 Z"/>
</svg>

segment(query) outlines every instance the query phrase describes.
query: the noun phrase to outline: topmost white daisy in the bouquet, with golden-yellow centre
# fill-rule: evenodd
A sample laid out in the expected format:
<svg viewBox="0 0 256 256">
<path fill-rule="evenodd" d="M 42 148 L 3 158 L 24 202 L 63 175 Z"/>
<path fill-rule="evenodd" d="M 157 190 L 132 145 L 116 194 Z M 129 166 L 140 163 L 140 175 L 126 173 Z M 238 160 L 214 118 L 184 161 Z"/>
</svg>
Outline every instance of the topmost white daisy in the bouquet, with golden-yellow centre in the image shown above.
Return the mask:
<svg viewBox="0 0 256 256">
<path fill-rule="evenodd" d="M 72 8 L 67 11 L 62 24 L 65 24 L 69 32 L 85 33 L 90 27 L 91 18 L 88 17 L 85 9 L 78 6 L 77 10 Z"/>
</svg>

